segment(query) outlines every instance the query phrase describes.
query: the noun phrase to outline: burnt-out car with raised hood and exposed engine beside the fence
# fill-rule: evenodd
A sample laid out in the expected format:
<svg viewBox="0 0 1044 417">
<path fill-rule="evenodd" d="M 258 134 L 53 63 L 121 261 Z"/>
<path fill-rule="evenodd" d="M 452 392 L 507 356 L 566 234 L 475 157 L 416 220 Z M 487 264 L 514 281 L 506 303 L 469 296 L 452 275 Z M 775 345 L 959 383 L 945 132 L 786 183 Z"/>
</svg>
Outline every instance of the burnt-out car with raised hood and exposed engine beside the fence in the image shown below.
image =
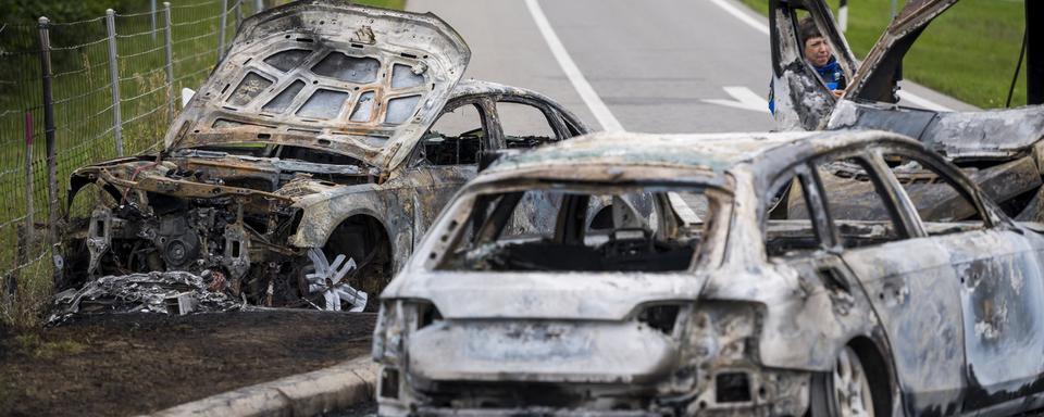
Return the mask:
<svg viewBox="0 0 1044 417">
<path fill-rule="evenodd" d="M 251 304 L 362 308 L 480 164 L 588 131 L 537 92 L 460 80 L 469 59 L 432 14 L 251 16 L 158 154 L 72 174 L 58 289 L 184 270 Z"/>
</svg>

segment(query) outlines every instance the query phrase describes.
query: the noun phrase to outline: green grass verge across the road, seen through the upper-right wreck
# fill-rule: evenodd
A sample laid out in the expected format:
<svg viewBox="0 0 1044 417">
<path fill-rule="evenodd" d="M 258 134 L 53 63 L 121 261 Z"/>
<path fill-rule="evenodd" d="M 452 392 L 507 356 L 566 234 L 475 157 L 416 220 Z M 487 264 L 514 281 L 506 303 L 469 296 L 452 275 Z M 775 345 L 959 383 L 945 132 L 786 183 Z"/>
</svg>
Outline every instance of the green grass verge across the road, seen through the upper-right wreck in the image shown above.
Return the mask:
<svg viewBox="0 0 1044 417">
<path fill-rule="evenodd" d="M 742 0 L 768 14 L 768 0 Z M 1004 108 L 1022 46 L 1024 0 L 962 0 L 928 26 L 904 60 L 903 75 L 983 109 Z M 828 0 L 835 12 L 838 0 Z M 902 7 L 905 1 L 899 1 Z M 862 58 L 887 26 L 891 0 L 848 2 L 845 37 Z M 1026 104 L 1026 66 L 1011 105 Z"/>
</svg>

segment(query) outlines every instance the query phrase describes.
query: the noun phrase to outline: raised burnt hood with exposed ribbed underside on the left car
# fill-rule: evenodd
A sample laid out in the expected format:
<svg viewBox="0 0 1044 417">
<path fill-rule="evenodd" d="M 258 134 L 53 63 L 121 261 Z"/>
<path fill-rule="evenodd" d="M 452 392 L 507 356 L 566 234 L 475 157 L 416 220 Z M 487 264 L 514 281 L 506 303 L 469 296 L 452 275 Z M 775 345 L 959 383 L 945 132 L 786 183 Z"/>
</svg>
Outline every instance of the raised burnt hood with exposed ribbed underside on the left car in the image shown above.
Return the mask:
<svg viewBox="0 0 1044 417">
<path fill-rule="evenodd" d="M 275 8 L 243 23 L 164 146 L 286 144 L 389 169 L 438 116 L 470 58 L 433 14 L 333 0 Z"/>
</svg>

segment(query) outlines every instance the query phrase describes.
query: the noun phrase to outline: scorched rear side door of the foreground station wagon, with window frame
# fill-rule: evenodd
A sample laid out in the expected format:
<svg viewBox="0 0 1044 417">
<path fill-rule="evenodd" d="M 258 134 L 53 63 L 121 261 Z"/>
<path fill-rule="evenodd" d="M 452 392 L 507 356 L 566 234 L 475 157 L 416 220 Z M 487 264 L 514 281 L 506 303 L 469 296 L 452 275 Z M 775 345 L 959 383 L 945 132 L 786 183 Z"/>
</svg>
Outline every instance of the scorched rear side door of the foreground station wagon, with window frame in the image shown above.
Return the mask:
<svg viewBox="0 0 1044 417">
<path fill-rule="evenodd" d="M 823 231 L 834 236 L 836 251 L 845 269 L 858 282 L 873 308 L 882 329 L 890 364 L 895 376 L 896 393 L 908 415 L 936 410 L 943 414 L 958 412 L 966 387 L 964 372 L 964 326 L 959 307 L 959 282 L 953 277 L 946 252 L 925 247 L 923 227 L 916 210 L 892 176 L 882 175 L 887 165 L 880 157 L 882 144 L 871 143 L 858 149 L 833 150 L 811 159 L 810 174 L 816 178 L 821 206 L 825 212 Z M 821 162 L 859 157 L 875 193 L 882 199 L 894 223 L 898 238 L 892 241 L 859 248 L 843 248 L 838 227 L 831 213 L 826 190 L 816 168 Z M 920 249 L 919 260 L 908 256 Z M 925 257 L 928 261 L 925 261 Z M 924 265 L 931 262 L 931 265 Z M 924 277 L 924 275 L 931 275 Z M 931 281 L 928 278 L 936 278 Z M 947 288 L 936 288 L 943 282 Z M 943 312 L 935 321 L 921 317 L 922 311 Z M 952 340 L 943 355 L 932 356 L 937 346 L 929 336 Z M 925 344 L 927 343 L 927 344 Z M 928 359 L 925 359 L 925 357 Z M 935 362 L 939 363 L 935 363 Z"/>
</svg>

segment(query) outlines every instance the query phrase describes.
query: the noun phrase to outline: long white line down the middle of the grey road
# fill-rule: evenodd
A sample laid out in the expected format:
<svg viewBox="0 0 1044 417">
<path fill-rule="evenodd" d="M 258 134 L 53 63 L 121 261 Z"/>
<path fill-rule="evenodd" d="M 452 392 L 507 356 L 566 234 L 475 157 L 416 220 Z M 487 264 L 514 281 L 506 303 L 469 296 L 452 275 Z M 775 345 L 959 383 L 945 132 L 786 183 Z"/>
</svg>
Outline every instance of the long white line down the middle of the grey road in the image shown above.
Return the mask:
<svg viewBox="0 0 1044 417">
<path fill-rule="evenodd" d="M 546 41 L 547 47 L 551 49 L 551 54 L 555 55 L 558 65 L 562 67 L 562 72 L 569 77 L 569 81 L 573 84 L 573 88 L 576 89 L 580 98 L 583 99 L 587 108 L 591 109 L 591 113 L 598 119 L 601 128 L 606 131 L 623 130 L 620 121 L 617 121 L 617 117 L 612 115 L 612 112 L 609 111 L 606 103 L 602 102 L 598 93 L 595 92 L 594 87 L 591 86 L 591 83 L 587 83 L 587 78 L 580 72 L 580 67 L 577 67 L 573 59 L 569 56 L 569 52 L 566 51 L 562 41 L 558 38 L 558 35 L 555 34 L 551 24 L 547 22 L 547 16 L 544 14 L 544 10 L 540 9 L 540 4 L 537 3 L 536 0 L 525 0 L 525 5 L 530 9 L 530 14 L 533 15 L 533 22 L 535 22 L 536 27 L 540 29 L 540 35 L 544 35 L 544 41 Z"/>
</svg>

